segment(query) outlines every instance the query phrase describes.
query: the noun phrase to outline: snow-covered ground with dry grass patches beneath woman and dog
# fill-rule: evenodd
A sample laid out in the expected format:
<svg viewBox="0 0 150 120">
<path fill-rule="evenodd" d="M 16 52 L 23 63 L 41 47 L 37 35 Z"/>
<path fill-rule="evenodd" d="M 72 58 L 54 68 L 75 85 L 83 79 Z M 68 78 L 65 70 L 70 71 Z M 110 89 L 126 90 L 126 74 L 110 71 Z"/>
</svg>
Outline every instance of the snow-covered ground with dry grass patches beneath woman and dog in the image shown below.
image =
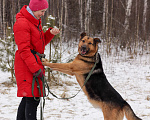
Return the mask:
<svg viewBox="0 0 150 120">
<path fill-rule="evenodd" d="M 123 54 L 122 57 L 120 55 L 106 57 L 101 50 L 100 53 L 109 82 L 131 105 L 137 116 L 143 120 L 150 120 L 150 54 L 130 59 Z M 65 54 L 64 58 L 69 57 L 70 54 Z M 0 71 L 0 120 L 15 120 L 21 100 L 16 95 L 16 85 L 2 84 L 9 83 L 9 77 L 10 73 Z M 64 91 L 66 96 L 72 96 L 80 89 L 74 76 L 60 75 L 60 78 L 63 80 L 62 83 L 71 81 L 72 84 L 51 86 L 51 91 L 58 96 Z M 40 108 L 38 108 L 38 120 L 39 114 Z M 103 120 L 103 114 L 100 109 L 93 108 L 81 91 L 70 100 L 60 100 L 49 95 L 49 99 L 46 99 L 44 118 L 45 120 Z"/>
</svg>

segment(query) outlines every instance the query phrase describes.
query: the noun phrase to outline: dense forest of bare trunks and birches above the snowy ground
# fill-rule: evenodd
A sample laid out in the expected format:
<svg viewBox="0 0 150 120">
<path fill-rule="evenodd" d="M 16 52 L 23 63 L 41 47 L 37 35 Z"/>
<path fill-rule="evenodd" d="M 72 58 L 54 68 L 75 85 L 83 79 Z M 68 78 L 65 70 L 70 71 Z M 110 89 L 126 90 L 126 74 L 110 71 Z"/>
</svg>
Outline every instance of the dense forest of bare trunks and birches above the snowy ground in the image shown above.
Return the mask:
<svg viewBox="0 0 150 120">
<path fill-rule="evenodd" d="M 29 1 L 0 0 L 0 67 L 4 71 L 11 71 L 12 78 L 16 50 L 13 25 L 16 14 Z M 80 33 L 86 32 L 102 40 L 103 52 L 107 56 L 114 51 L 115 55 L 126 51 L 131 58 L 150 54 L 148 0 L 48 0 L 48 3 L 42 25 L 57 26 L 61 30 L 55 44 L 61 46 L 67 42 L 70 45 L 78 41 Z M 49 15 L 55 18 L 52 24 L 47 24 Z M 7 59 L 3 60 L 4 56 Z"/>
</svg>

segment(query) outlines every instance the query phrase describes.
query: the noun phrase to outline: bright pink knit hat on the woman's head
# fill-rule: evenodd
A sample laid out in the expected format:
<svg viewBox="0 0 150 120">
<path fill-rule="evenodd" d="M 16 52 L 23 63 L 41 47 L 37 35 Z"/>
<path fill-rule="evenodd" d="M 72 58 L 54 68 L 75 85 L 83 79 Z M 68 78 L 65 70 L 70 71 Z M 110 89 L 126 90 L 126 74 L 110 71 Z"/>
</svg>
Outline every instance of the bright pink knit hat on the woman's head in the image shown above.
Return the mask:
<svg viewBox="0 0 150 120">
<path fill-rule="evenodd" d="M 47 0 L 30 0 L 29 8 L 32 11 L 38 11 L 48 8 Z"/>
</svg>

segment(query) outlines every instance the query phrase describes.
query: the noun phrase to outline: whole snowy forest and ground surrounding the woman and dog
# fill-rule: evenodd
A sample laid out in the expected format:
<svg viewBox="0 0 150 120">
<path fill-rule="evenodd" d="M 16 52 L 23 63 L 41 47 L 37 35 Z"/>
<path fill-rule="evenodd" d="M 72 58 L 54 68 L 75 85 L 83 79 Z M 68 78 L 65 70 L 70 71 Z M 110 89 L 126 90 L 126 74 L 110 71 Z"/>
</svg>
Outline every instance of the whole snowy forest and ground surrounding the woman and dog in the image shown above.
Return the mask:
<svg viewBox="0 0 150 120">
<path fill-rule="evenodd" d="M 13 36 L 15 16 L 30 0 L 0 0 L 0 119 L 14 120 L 21 98 L 16 98 Z M 150 0 L 48 0 L 42 17 L 43 30 L 58 27 L 61 32 L 46 46 L 51 62 L 69 62 L 78 54 L 80 34 L 86 32 L 102 43 L 99 53 L 111 85 L 143 120 L 150 118 Z M 46 68 L 46 67 L 45 67 Z M 10 79 L 9 79 L 10 78 Z M 80 86 L 75 77 L 46 68 L 54 94 L 70 97 Z M 75 99 L 46 99 L 45 120 L 98 120 L 83 92 Z M 86 108 L 86 109 L 85 109 Z M 40 118 L 40 109 L 38 118 Z M 126 119 L 125 119 L 126 120 Z"/>
</svg>

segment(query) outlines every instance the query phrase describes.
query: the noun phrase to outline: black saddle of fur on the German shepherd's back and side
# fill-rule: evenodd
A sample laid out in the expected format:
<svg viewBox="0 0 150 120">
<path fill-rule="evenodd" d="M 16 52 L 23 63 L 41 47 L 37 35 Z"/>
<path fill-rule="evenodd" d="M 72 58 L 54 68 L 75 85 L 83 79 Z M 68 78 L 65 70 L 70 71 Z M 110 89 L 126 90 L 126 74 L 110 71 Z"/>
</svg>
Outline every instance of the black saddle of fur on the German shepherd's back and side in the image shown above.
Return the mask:
<svg viewBox="0 0 150 120">
<path fill-rule="evenodd" d="M 87 76 L 88 74 L 84 75 L 84 80 Z M 119 106 L 124 105 L 123 103 L 125 102 L 121 95 L 108 82 L 100 58 L 88 82 L 85 84 L 85 91 L 91 100 L 107 103 L 113 102 Z"/>
</svg>

